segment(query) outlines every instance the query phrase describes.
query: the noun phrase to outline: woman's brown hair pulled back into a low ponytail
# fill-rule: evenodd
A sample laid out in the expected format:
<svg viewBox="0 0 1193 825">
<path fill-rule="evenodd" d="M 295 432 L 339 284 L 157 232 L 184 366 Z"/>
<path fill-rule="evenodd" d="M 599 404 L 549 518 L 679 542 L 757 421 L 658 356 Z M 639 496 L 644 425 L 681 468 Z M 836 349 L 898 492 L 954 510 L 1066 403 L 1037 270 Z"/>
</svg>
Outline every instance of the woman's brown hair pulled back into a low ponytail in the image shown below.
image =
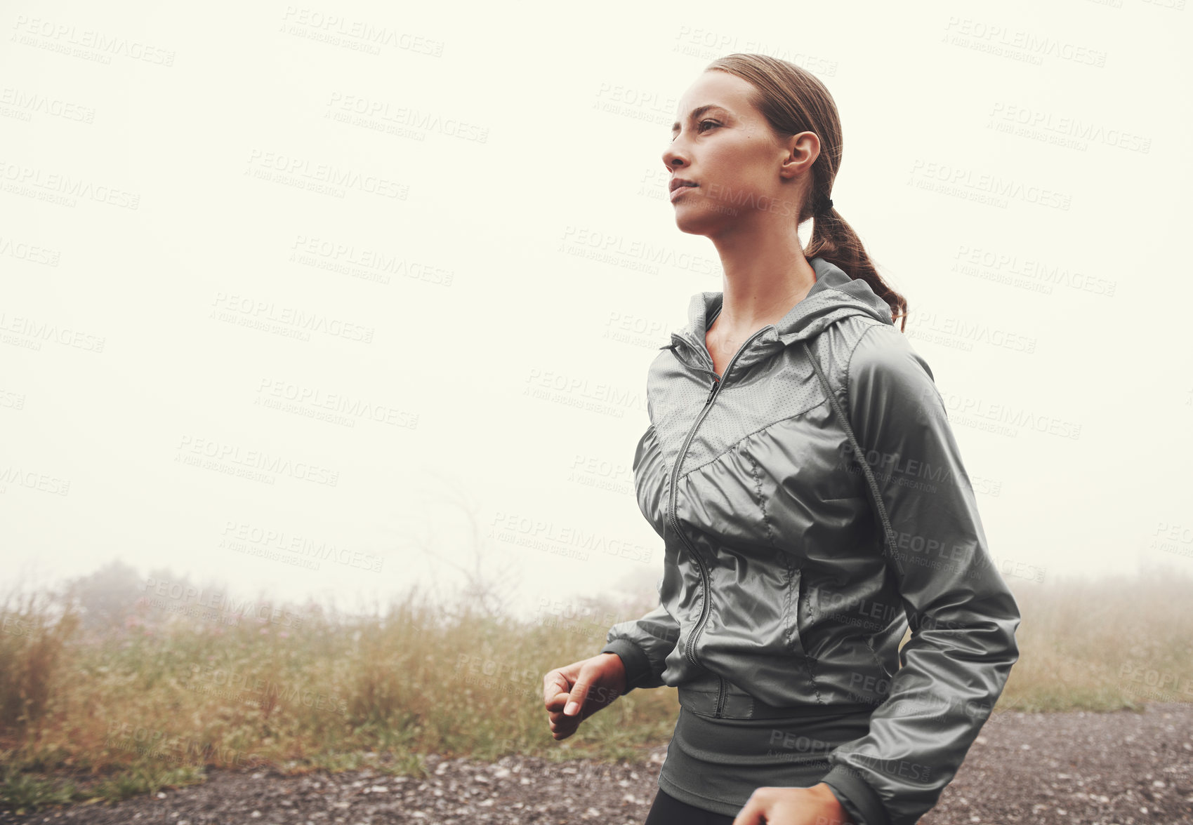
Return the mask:
<svg viewBox="0 0 1193 825">
<path fill-rule="evenodd" d="M 824 83 L 806 69 L 768 55 L 725 55 L 709 63 L 705 70 L 728 72 L 753 85 L 750 103 L 762 112 L 775 135 L 816 132 L 821 151 L 812 163 L 812 184 L 796 216 L 797 227 L 815 217 L 804 256 L 823 258 L 849 278 L 866 281 L 874 294 L 890 304 L 891 321 L 902 318 L 900 329 L 905 329 L 907 299 L 878 274 L 853 227 L 833 206 L 815 213 L 816 207 L 829 199 L 833 180 L 841 167 L 841 119 Z"/>
</svg>

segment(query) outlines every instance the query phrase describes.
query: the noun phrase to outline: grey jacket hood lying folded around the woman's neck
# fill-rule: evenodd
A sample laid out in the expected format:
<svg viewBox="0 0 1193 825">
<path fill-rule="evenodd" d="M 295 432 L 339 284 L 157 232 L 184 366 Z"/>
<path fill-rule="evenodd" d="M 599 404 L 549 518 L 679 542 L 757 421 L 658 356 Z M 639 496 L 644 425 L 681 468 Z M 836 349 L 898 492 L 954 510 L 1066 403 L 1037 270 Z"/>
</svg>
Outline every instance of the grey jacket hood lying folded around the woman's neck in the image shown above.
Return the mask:
<svg viewBox="0 0 1193 825">
<path fill-rule="evenodd" d="M 865 315 L 894 325 L 890 304 L 874 294 L 870 284 L 849 278 L 841 267 L 823 258 L 811 258 L 808 262 L 816 273 L 812 289 L 777 323 L 765 327 L 749 349 L 738 355 L 734 366 L 746 367 L 765 360 L 787 345 L 814 337 L 829 324 L 853 315 Z M 704 336 L 721 312 L 723 299 L 723 292 L 693 294 L 687 306 L 687 327 L 672 333 L 670 343 L 660 349 L 682 345 L 707 358 Z"/>
</svg>

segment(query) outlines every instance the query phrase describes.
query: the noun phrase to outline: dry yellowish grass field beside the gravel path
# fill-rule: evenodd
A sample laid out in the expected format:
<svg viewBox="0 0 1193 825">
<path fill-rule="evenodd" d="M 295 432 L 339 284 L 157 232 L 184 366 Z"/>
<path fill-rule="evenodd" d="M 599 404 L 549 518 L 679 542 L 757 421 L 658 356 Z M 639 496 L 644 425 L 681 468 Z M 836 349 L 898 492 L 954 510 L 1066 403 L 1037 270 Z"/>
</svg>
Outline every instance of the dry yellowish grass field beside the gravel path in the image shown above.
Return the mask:
<svg viewBox="0 0 1193 825">
<path fill-rule="evenodd" d="M 1000 709 L 1193 700 L 1187 576 L 1008 582 L 1024 620 Z M 650 600 L 587 607 L 630 618 Z M 416 774 L 427 752 L 619 758 L 665 744 L 678 712 L 674 690 L 638 690 L 551 739 L 543 675 L 599 650 L 599 620 L 517 622 L 414 596 L 371 615 L 310 603 L 184 618 L 146 595 L 125 608 L 100 626 L 68 595 L 0 609 L 0 807 L 119 799 L 202 781 L 209 765 Z"/>
</svg>

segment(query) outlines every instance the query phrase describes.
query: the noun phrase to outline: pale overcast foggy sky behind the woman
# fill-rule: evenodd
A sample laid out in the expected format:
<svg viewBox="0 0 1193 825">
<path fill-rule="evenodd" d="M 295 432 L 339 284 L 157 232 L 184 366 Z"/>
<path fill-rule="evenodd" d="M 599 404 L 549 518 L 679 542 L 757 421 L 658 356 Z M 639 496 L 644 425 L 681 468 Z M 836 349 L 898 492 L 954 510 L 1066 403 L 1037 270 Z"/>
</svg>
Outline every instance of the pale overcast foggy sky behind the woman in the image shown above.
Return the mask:
<svg viewBox="0 0 1193 825">
<path fill-rule="evenodd" d="M 2 2 L 0 584 L 649 587 L 647 367 L 723 289 L 661 156 L 734 51 L 833 93 L 1008 582 L 1191 571 L 1180 6 Z"/>
</svg>

